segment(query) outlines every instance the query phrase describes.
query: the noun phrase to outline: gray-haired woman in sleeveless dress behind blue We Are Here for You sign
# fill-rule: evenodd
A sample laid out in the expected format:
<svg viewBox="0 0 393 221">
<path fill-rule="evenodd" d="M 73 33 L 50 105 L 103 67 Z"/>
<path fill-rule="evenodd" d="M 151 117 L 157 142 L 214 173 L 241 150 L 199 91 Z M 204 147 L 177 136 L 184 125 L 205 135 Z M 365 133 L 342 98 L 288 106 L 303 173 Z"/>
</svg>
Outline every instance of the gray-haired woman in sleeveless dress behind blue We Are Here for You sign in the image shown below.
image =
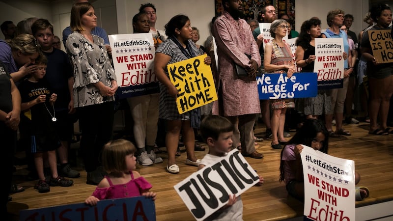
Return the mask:
<svg viewBox="0 0 393 221">
<path fill-rule="evenodd" d="M 274 39 L 265 46 L 264 62 L 265 71 L 268 73 L 286 73 L 286 77 L 292 77 L 295 72 L 295 64 L 292 58 L 291 48 L 282 41 L 288 30 L 288 23 L 283 19 L 275 20 L 270 26 L 270 34 Z M 270 100 L 273 114 L 270 119 L 272 125 L 272 148 L 281 149 L 281 143 L 285 143 L 284 124 L 287 108 L 295 106 L 291 99 Z"/>
</svg>

